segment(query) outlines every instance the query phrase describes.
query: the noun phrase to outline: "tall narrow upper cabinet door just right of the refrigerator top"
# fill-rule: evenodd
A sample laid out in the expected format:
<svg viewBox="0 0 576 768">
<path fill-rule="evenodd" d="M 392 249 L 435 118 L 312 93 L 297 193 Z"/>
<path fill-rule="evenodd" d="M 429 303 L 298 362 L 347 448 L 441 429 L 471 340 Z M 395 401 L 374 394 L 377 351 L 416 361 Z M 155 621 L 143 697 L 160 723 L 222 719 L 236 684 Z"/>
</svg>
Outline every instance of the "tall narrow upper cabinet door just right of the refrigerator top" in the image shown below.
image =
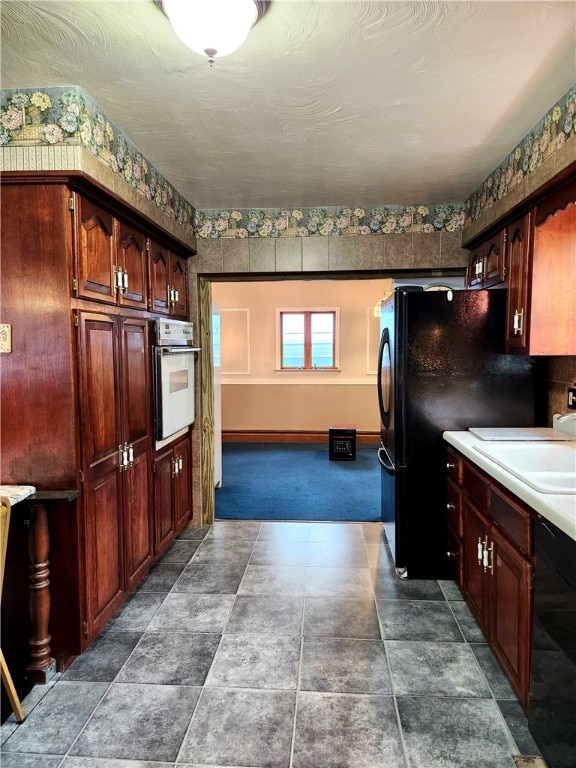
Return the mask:
<svg viewBox="0 0 576 768">
<path fill-rule="evenodd" d="M 506 227 L 508 300 L 506 309 L 506 348 L 526 352 L 530 322 L 530 241 L 531 214 Z"/>
</svg>

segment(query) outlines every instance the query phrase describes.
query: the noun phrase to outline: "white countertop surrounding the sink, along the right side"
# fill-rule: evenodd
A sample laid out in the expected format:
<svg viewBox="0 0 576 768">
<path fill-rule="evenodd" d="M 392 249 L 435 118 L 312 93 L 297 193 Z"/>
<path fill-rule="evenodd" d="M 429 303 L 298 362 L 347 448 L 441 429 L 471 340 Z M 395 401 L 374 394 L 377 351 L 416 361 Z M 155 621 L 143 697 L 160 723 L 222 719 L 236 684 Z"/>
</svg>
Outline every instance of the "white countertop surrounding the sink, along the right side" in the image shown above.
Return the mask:
<svg viewBox="0 0 576 768">
<path fill-rule="evenodd" d="M 476 451 L 474 446 L 481 446 L 484 441 L 471 432 L 444 432 L 443 437 L 466 458 L 576 541 L 575 494 L 540 493 L 534 490 L 499 464 Z"/>
</svg>

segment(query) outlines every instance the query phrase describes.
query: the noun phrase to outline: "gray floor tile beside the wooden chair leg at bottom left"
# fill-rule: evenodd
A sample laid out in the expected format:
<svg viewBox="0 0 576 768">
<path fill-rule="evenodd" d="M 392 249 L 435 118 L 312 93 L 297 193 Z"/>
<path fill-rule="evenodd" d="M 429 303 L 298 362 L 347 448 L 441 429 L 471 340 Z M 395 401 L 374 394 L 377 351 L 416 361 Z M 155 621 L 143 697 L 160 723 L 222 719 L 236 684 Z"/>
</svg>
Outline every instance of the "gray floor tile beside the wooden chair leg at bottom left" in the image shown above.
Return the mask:
<svg viewBox="0 0 576 768">
<path fill-rule="evenodd" d="M 66 754 L 107 689 L 107 683 L 59 680 L 4 743 L 3 751 Z"/>
</svg>

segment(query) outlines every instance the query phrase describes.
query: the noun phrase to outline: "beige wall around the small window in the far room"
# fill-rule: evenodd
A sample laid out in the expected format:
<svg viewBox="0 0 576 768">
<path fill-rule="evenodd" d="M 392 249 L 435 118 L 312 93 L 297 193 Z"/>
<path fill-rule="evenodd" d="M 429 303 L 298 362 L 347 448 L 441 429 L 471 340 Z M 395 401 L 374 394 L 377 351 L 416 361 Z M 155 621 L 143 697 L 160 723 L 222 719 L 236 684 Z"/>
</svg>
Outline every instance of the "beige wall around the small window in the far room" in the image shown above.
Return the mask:
<svg viewBox="0 0 576 768">
<path fill-rule="evenodd" d="M 352 423 L 378 432 L 379 320 L 373 307 L 387 279 L 213 283 L 221 310 L 222 429 L 323 431 Z M 276 369 L 277 309 L 338 308 L 335 371 Z"/>
</svg>

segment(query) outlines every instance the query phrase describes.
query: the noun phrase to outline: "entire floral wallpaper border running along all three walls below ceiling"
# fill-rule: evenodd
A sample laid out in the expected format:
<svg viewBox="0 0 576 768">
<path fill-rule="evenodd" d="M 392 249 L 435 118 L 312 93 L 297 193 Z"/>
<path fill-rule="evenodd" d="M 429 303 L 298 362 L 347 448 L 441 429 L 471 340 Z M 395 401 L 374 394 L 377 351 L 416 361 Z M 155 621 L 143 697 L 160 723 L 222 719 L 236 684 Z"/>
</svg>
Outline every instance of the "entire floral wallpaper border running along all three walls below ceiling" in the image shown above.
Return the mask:
<svg viewBox="0 0 576 768">
<path fill-rule="evenodd" d="M 6 89 L 0 97 L 0 147 L 86 147 L 185 230 L 212 239 L 460 231 L 576 137 L 575 84 L 463 203 L 196 211 L 82 89 Z"/>
</svg>

